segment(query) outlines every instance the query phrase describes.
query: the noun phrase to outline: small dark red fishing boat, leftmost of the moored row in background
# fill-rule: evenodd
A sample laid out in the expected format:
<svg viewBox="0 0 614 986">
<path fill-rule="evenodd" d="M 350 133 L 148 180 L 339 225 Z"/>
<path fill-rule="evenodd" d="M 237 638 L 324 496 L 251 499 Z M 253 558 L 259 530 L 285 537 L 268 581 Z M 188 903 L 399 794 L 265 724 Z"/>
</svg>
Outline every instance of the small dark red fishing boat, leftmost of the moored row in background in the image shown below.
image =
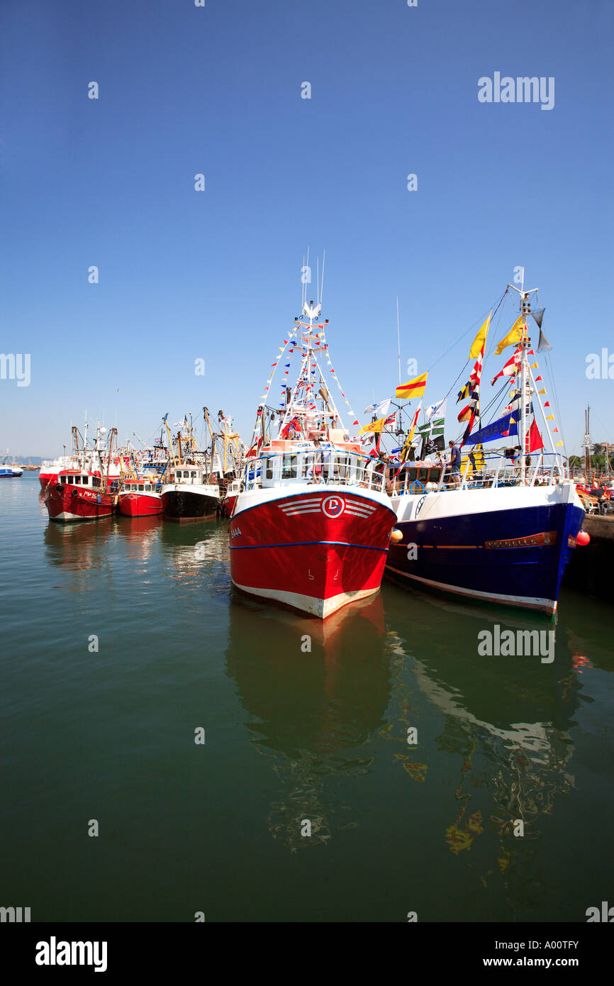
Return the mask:
<svg viewBox="0 0 614 986">
<path fill-rule="evenodd" d="M 81 461 L 75 466 L 60 469 L 56 478 L 47 483 L 44 502 L 50 521 L 92 521 L 114 513 L 119 478 L 111 476 L 109 468 L 116 429 L 111 428 L 105 455 L 102 456 L 104 435 L 106 429 L 99 426 L 94 449 L 87 449 L 84 445 Z"/>
</svg>

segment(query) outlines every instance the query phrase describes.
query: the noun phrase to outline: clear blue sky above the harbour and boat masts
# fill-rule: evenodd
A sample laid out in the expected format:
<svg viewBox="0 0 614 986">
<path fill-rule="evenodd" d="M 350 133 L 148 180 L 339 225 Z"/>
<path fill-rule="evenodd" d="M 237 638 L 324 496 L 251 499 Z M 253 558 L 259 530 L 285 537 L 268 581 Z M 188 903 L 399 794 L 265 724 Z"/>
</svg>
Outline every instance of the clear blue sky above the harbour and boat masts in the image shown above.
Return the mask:
<svg viewBox="0 0 614 986">
<path fill-rule="evenodd" d="M 58 455 L 86 407 L 149 438 L 206 403 L 247 439 L 307 245 L 361 423 L 396 382 L 397 294 L 424 372 L 523 264 L 568 452 L 586 401 L 613 441 L 614 381 L 585 375 L 614 355 L 613 27 L 610 0 L 2 0 L 0 351 L 32 382 L 0 381 L 0 451 Z M 553 76 L 554 108 L 479 103 L 496 71 Z"/>
</svg>

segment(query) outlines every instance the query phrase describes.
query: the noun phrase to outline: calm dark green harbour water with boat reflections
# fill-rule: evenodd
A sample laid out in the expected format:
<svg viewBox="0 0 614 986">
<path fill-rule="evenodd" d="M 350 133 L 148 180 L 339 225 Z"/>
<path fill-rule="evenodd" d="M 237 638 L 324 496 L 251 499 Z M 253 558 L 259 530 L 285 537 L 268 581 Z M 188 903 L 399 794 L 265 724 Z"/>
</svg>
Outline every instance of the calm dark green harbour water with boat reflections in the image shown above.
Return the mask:
<svg viewBox="0 0 614 986">
<path fill-rule="evenodd" d="M 0 485 L 0 550 L 0 904 L 583 922 L 612 903 L 605 601 L 564 588 L 551 622 L 384 584 L 322 626 L 232 589 L 226 522 L 54 526 L 36 473 Z M 480 656 L 495 624 L 554 628 L 555 660 Z"/>
</svg>

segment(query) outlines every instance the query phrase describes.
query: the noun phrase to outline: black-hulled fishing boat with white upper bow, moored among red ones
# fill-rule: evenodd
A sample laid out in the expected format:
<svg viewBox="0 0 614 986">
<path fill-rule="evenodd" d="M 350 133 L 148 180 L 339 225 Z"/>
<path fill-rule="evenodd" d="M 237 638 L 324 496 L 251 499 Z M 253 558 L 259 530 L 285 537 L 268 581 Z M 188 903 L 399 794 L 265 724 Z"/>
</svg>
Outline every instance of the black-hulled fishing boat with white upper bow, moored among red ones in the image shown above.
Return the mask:
<svg viewBox="0 0 614 986">
<path fill-rule="evenodd" d="M 177 432 L 176 456 L 171 432 L 168 431 L 172 464 L 161 489 L 165 520 L 207 521 L 216 517 L 220 510 L 219 479 L 215 476 L 213 467 L 215 438 L 206 407 L 203 408 L 203 413 L 211 436 L 211 448 L 208 451 L 197 449 L 191 418 L 189 425 L 187 419 L 184 419 L 185 433 Z"/>
</svg>

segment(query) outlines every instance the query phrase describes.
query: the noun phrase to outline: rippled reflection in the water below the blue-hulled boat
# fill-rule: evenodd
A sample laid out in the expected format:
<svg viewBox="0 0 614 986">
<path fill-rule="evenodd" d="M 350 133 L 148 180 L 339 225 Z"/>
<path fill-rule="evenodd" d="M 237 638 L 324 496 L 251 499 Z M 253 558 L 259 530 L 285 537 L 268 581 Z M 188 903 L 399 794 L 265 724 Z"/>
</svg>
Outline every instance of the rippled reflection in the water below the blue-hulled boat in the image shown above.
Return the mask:
<svg viewBox="0 0 614 986">
<path fill-rule="evenodd" d="M 424 698 L 443 714 L 443 729 L 434 737 L 421 731 L 414 756 L 399 754 L 398 747 L 393 755 L 414 781 L 424 780 L 427 769 L 438 769 L 443 761 L 457 807 L 442 826 L 442 848 L 446 843 L 459 856 L 484 832 L 494 833 L 498 852 L 487 853 L 479 880 L 487 887 L 503 875 L 510 904 L 535 907 L 543 891 L 536 843 L 544 816 L 575 787 L 570 729 L 580 705 L 578 641 L 571 645 L 564 627 L 551 626 L 556 641 L 551 664 L 542 664 L 539 656 L 482 657 L 480 631 L 493 631 L 496 623 L 514 633 L 543 630 L 543 619 L 415 595 L 411 635 L 388 633 L 388 645 L 405 657 L 411 672 L 400 702 L 399 735 L 419 722 L 415 713 Z M 386 608 L 392 620 L 403 607 L 396 592 L 393 602 Z"/>
</svg>

